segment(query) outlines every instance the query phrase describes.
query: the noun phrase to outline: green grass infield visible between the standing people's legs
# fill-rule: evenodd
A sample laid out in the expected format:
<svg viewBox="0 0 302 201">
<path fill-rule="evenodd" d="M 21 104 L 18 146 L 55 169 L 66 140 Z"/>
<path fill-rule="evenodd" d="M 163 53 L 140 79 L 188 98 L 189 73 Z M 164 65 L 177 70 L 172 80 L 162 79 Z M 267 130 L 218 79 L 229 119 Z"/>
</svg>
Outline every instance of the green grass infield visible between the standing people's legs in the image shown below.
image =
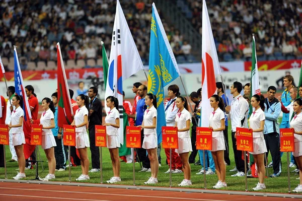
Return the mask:
<svg viewBox="0 0 302 201">
<path fill-rule="evenodd" d="M 229 133 L 231 126 L 229 126 Z M 238 191 L 245 191 L 245 177 L 231 177 L 232 172 L 229 170 L 233 169 L 235 167 L 235 161 L 234 161 L 234 154 L 232 149 L 232 140 L 231 135 L 229 136 L 229 142 L 230 142 L 230 158 L 231 158 L 231 165 L 226 166 L 226 183 L 228 184 L 228 187 L 225 188 L 225 190 L 238 190 Z M 44 151 L 42 150 L 41 146 L 39 146 L 40 153 L 42 160 L 45 162 L 43 163 L 45 169 L 43 172 L 41 166 L 39 165 L 39 176 L 41 178 L 45 177 L 48 173 L 48 167 L 47 167 L 47 161 Z M 88 149 L 89 150 L 89 149 Z M 102 148 L 103 151 L 103 182 L 106 182 L 106 180 L 109 180 L 112 175 L 112 166 L 111 166 L 111 160 L 109 151 L 107 148 Z M 11 154 L 9 150 L 9 146 L 6 146 L 6 159 L 9 161 L 11 159 Z M 158 174 L 158 180 L 159 183 L 156 184 L 156 186 L 166 186 L 169 187 L 169 174 L 165 174 L 169 169 L 169 166 L 166 165 L 166 155 L 165 151 L 162 149 L 161 151 L 161 157 L 162 157 L 162 167 L 159 169 Z M 89 158 L 90 158 L 90 150 L 89 150 Z M 196 161 L 198 160 L 198 156 L 196 157 Z M 269 161 L 271 160 L 271 157 L 269 157 Z M 263 190 L 262 192 L 279 192 L 279 193 L 286 193 L 288 191 L 287 187 L 287 168 L 286 168 L 286 154 L 283 154 L 282 157 L 282 173 L 277 178 L 267 178 L 265 179 L 265 184 L 267 189 Z M 8 173 L 8 179 L 12 179 L 14 176 L 16 176 L 17 171 L 15 170 L 18 168 L 17 162 L 7 162 L 7 173 Z M 203 175 L 196 175 L 198 170 L 201 168 L 201 166 L 196 166 L 194 164 L 191 164 L 191 181 L 192 186 L 190 188 L 203 188 Z M 91 169 L 91 164 L 90 164 Z M 290 171 L 294 168 L 290 168 Z M 68 169 L 67 169 L 68 170 Z M 136 185 L 145 185 L 143 184 L 144 181 L 148 180 L 148 176 L 150 176 L 150 173 L 147 172 L 138 172 L 140 170 L 140 166 L 138 163 L 135 164 L 135 184 Z M 272 168 L 268 168 L 269 175 L 273 173 Z M 123 185 L 133 185 L 133 173 L 132 173 L 132 164 L 126 164 L 124 162 L 121 163 L 121 180 L 119 184 Z M 26 179 L 34 179 L 35 178 L 35 170 L 26 170 Z M 72 182 L 75 182 L 75 179 L 81 175 L 81 167 L 71 167 L 71 180 Z M 63 172 L 56 172 L 55 173 L 56 179 L 53 181 L 68 181 L 68 171 Z M 96 173 L 90 173 L 90 180 L 84 181 L 87 183 L 100 183 L 100 172 Z M 290 181 L 291 181 L 291 190 L 294 189 L 297 184 L 299 183 L 299 180 L 296 180 L 298 175 L 294 175 L 294 173 L 290 172 Z M 5 178 L 5 170 L 4 168 L 0 168 L 0 179 Z M 177 187 L 177 184 L 179 184 L 183 180 L 183 174 L 172 174 L 172 185 L 174 187 Z M 212 188 L 213 185 L 217 182 L 217 176 L 214 175 L 206 175 L 207 180 L 207 188 Z M 51 182 L 51 181 L 49 181 Z M 256 186 L 258 183 L 258 178 L 248 178 L 248 189 L 251 191 L 253 187 Z"/>
</svg>

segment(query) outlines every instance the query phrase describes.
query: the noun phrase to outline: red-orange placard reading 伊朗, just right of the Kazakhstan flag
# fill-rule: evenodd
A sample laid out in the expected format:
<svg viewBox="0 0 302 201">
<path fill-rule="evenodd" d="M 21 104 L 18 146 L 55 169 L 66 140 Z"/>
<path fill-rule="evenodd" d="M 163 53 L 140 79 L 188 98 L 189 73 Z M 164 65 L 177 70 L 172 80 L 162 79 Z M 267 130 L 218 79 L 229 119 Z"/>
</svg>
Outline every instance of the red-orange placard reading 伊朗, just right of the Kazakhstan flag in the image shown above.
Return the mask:
<svg viewBox="0 0 302 201">
<path fill-rule="evenodd" d="M 174 126 L 162 126 L 163 148 L 178 149 L 178 128 Z"/>
</svg>

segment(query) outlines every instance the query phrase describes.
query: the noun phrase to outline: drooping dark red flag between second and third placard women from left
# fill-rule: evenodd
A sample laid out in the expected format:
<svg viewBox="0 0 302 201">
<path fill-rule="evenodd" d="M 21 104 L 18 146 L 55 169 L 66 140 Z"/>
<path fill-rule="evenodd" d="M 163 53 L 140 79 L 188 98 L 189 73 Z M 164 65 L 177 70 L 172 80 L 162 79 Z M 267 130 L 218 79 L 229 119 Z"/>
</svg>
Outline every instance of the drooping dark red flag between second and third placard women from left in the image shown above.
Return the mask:
<svg viewBox="0 0 302 201">
<path fill-rule="evenodd" d="M 65 74 L 64 63 L 61 54 L 60 44 L 57 43 L 57 65 L 58 65 L 58 126 L 63 127 L 63 124 L 71 124 L 72 122 L 72 107 L 69 95 L 69 89 Z"/>
</svg>

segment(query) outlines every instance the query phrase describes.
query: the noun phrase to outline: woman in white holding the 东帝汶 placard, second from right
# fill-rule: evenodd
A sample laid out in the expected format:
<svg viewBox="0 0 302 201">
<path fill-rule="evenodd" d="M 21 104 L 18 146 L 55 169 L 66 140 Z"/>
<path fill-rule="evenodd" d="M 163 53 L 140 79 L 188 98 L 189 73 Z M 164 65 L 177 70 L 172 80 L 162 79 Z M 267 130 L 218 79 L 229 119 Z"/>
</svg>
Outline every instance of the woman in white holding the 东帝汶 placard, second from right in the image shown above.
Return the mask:
<svg viewBox="0 0 302 201">
<path fill-rule="evenodd" d="M 264 184 L 265 178 L 265 166 L 264 166 L 264 153 L 267 152 L 266 144 L 264 140 L 263 130 L 264 130 L 264 120 L 265 114 L 263 112 L 264 106 L 264 97 L 262 95 L 255 94 L 251 98 L 251 105 L 255 108 L 254 112 L 251 114 L 249 122 L 250 129 L 253 129 L 253 154 L 257 172 L 259 177 L 259 182 L 253 190 L 263 190 L 266 189 Z"/>
</svg>

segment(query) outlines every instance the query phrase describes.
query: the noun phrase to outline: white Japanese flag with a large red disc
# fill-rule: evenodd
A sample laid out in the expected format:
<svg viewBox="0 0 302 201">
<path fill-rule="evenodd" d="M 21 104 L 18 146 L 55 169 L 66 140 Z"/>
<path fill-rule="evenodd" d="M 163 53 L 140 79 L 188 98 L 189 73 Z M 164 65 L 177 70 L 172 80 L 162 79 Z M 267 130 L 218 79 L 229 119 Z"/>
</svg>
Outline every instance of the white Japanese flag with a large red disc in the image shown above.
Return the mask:
<svg viewBox="0 0 302 201">
<path fill-rule="evenodd" d="M 202 4 L 202 69 L 201 69 L 201 126 L 209 126 L 209 116 L 213 111 L 210 97 L 216 92 L 215 77 L 221 75 L 217 51 L 214 43 L 212 28 L 207 12 L 205 0 Z"/>
</svg>

